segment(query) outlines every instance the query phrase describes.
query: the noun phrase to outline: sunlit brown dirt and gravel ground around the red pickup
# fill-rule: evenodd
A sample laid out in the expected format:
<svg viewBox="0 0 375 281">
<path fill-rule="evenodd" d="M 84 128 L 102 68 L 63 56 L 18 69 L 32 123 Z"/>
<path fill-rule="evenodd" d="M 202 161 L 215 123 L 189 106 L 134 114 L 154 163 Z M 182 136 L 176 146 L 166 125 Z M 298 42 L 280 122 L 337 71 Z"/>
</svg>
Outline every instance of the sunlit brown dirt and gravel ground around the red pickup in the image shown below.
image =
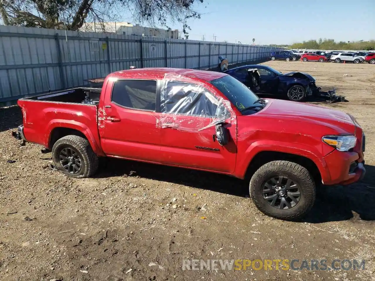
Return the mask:
<svg viewBox="0 0 375 281">
<path fill-rule="evenodd" d="M 226 176 L 116 159 L 95 178 L 64 176 L 40 146 L 10 136 L 19 109 L 0 109 L 0 280 L 375 280 L 375 66 L 264 64 L 347 97 L 320 104 L 362 125 L 362 182 L 321 187 L 302 222 L 275 220 L 257 211 L 246 182 Z M 329 268 L 357 259 L 365 270 L 183 271 L 184 259 L 326 259 Z"/>
</svg>

